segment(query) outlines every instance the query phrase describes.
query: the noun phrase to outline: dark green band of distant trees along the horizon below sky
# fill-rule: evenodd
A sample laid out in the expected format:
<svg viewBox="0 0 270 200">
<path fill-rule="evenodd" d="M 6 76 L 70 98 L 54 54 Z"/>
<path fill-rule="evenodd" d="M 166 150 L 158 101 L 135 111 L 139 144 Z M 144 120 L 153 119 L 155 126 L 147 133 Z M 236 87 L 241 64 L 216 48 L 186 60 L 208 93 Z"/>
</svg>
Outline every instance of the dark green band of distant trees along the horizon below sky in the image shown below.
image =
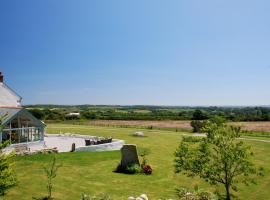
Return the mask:
<svg viewBox="0 0 270 200">
<path fill-rule="evenodd" d="M 202 119 L 221 116 L 228 121 L 270 121 L 270 107 L 31 105 L 26 108 L 41 120 L 192 120 L 200 110 Z M 68 116 L 74 112 L 80 116 Z"/>
</svg>

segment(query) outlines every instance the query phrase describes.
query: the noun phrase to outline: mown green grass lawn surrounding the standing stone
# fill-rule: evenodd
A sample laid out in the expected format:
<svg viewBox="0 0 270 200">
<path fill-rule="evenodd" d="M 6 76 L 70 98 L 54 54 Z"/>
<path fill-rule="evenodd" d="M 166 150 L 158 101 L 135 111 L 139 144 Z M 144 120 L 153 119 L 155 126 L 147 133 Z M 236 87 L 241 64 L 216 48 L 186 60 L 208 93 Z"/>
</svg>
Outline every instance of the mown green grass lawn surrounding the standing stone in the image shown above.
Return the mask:
<svg viewBox="0 0 270 200">
<path fill-rule="evenodd" d="M 138 130 L 138 129 L 136 129 Z M 132 128 L 111 128 L 95 126 L 79 126 L 66 124 L 49 124 L 49 133 L 80 133 L 97 136 L 112 136 L 124 139 L 126 143 L 151 151 L 149 163 L 154 171 L 152 176 L 125 175 L 114 173 L 120 161 L 120 152 L 101 153 L 62 153 L 57 154 L 62 164 L 55 179 L 54 197 L 61 200 L 80 199 L 81 193 L 109 194 L 115 200 L 126 200 L 130 195 L 146 193 L 150 199 L 159 197 L 175 198 L 174 191 L 178 186 L 192 188 L 196 184 L 214 191 L 216 188 L 202 180 L 174 174 L 174 151 L 180 140 L 180 132 L 147 130 L 147 137 L 130 136 Z M 254 162 L 265 168 L 265 176 L 259 177 L 257 185 L 241 186 L 237 196 L 239 199 L 268 199 L 270 196 L 270 143 L 247 141 L 255 152 Z M 43 166 L 51 160 L 51 155 L 33 155 L 18 157 L 16 172 L 19 180 L 17 187 L 12 188 L 6 200 L 29 200 L 32 197 L 46 195 L 46 179 Z M 222 191 L 222 188 L 218 188 Z"/>
</svg>

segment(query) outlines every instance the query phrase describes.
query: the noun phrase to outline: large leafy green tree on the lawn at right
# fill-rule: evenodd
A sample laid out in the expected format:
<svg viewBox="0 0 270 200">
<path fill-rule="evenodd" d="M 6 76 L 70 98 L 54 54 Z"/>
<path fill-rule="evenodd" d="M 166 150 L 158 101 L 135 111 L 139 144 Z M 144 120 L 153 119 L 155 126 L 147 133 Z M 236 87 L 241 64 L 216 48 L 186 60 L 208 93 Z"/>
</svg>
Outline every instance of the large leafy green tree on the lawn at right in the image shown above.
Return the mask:
<svg viewBox="0 0 270 200">
<path fill-rule="evenodd" d="M 253 182 L 259 170 L 250 161 L 253 153 L 240 137 L 240 128 L 207 122 L 207 137 L 200 140 L 183 138 L 175 152 L 175 172 L 199 176 L 212 185 L 222 184 L 230 200 L 237 184 Z M 198 142 L 197 142 L 198 141 Z"/>
</svg>

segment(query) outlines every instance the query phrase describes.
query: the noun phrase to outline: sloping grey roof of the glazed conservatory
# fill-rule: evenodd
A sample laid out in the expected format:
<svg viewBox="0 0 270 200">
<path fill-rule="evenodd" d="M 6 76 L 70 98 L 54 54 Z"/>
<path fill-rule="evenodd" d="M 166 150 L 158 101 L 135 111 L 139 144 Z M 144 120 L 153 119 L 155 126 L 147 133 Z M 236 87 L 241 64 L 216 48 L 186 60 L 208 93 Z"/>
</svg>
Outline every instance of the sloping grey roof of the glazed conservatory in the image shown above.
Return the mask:
<svg viewBox="0 0 270 200">
<path fill-rule="evenodd" d="M 0 107 L 0 117 L 4 118 L 1 124 L 6 125 L 10 121 L 12 121 L 18 114 L 21 114 L 21 113 L 26 114 L 29 118 L 33 119 L 35 122 L 37 122 L 41 126 L 45 126 L 45 124 L 42 121 L 40 121 L 39 119 L 34 117 L 26 109 L 24 109 L 24 108 L 9 108 L 9 107 L 6 107 L 6 108 Z"/>
</svg>

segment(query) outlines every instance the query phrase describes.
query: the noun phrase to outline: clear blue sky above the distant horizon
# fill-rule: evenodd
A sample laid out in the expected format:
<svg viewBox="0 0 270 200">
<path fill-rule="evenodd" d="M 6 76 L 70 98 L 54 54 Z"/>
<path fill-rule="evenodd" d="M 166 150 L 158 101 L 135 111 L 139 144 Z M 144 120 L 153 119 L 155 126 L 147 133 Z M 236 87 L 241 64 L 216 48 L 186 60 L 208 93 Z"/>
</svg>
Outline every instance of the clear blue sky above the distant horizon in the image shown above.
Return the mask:
<svg viewBox="0 0 270 200">
<path fill-rule="evenodd" d="M 270 105 L 269 11 L 269 0 L 1 0 L 0 71 L 24 104 Z"/>
</svg>

